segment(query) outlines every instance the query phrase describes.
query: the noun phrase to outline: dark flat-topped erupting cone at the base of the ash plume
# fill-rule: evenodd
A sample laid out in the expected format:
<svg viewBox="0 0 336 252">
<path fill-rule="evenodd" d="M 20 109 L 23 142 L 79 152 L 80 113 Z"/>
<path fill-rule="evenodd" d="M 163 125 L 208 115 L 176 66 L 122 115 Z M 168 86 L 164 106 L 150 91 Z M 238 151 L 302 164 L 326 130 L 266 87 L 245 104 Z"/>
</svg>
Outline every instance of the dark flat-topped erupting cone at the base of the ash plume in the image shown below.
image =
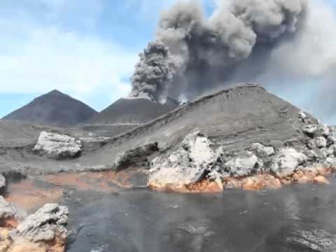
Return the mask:
<svg viewBox="0 0 336 252">
<path fill-rule="evenodd" d="M 118 99 L 111 106 L 90 120 L 94 124 L 141 124 L 175 109 L 179 104 L 168 99 L 158 104 L 148 99 Z"/>
</svg>

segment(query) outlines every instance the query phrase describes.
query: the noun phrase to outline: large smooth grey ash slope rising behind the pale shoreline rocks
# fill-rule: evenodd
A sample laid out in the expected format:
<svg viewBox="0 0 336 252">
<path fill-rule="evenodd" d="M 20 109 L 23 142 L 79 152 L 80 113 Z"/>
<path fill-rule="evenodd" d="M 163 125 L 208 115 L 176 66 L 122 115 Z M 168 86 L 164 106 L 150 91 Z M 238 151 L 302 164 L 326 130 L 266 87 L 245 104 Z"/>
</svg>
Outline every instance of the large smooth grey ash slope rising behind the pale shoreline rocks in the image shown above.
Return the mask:
<svg viewBox="0 0 336 252">
<path fill-rule="evenodd" d="M 179 147 L 186 135 L 200 130 L 224 151 L 239 151 L 260 142 L 280 148 L 290 142 L 302 142 L 300 109 L 267 92 L 258 85 L 239 85 L 210 94 L 160 116 L 125 134 L 90 148 L 76 160 L 62 162 L 38 158 L 29 153 L 4 155 L 8 167 L 35 167 L 38 172 L 111 169 L 116 158 L 125 151 L 158 143 L 159 155 Z M 314 119 L 312 119 L 314 120 Z M 0 164 L 1 164 L 0 155 Z M 29 168 L 30 169 L 30 168 Z"/>
</svg>

